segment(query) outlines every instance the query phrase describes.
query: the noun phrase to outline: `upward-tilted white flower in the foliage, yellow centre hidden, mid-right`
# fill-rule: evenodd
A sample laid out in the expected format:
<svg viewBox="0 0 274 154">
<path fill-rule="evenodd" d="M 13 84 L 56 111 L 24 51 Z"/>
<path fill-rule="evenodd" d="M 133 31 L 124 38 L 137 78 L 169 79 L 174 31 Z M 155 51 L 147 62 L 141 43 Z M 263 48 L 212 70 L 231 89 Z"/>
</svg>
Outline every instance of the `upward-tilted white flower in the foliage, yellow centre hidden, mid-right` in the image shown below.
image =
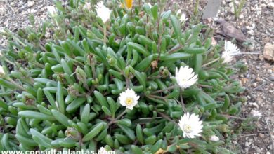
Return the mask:
<svg viewBox="0 0 274 154">
<path fill-rule="evenodd" d="M 176 68 L 175 78 L 178 85 L 183 89 L 190 87 L 198 80 L 197 74 L 195 75 L 193 69 L 188 66 L 181 66 L 179 71 L 178 68 Z"/>
</svg>

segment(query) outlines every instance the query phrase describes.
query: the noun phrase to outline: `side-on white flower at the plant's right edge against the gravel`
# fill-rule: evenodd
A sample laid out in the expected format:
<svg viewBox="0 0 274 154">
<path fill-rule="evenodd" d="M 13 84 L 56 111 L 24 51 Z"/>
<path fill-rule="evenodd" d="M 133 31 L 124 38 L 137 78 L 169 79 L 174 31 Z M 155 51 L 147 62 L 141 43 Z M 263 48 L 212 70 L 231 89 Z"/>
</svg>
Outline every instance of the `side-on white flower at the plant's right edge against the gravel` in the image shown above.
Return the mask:
<svg viewBox="0 0 274 154">
<path fill-rule="evenodd" d="M 237 45 L 230 41 L 225 41 L 225 51 L 222 54 L 223 63 L 231 62 L 234 55 L 239 55 L 241 51 L 237 48 Z"/>
</svg>

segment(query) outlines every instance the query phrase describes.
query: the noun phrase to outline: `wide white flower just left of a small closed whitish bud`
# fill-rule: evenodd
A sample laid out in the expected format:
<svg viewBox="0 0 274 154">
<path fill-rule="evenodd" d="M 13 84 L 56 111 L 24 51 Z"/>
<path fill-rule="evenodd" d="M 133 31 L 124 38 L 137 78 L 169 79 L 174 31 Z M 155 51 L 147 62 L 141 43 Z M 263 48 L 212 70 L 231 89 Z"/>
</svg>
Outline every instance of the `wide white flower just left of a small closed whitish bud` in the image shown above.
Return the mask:
<svg viewBox="0 0 274 154">
<path fill-rule="evenodd" d="M 183 137 L 194 138 L 195 136 L 201 136 L 199 133 L 202 132 L 202 121 L 200 121 L 198 115 L 185 113 L 179 120 L 178 125 L 183 130 Z"/>
</svg>

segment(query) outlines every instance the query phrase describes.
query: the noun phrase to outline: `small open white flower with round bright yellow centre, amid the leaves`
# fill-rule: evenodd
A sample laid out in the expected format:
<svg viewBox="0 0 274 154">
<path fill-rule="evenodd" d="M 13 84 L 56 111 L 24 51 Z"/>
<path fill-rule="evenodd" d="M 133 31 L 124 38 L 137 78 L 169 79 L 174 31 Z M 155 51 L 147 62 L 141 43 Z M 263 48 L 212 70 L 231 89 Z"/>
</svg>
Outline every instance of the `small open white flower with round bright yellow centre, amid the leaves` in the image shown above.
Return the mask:
<svg viewBox="0 0 274 154">
<path fill-rule="evenodd" d="M 122 106 L 126 106 L 126 109 L 132 110 L 138 104 L 139 96 L 133 90 L 127 89 L 120 94 L 118 99 Z"/>
</svg>

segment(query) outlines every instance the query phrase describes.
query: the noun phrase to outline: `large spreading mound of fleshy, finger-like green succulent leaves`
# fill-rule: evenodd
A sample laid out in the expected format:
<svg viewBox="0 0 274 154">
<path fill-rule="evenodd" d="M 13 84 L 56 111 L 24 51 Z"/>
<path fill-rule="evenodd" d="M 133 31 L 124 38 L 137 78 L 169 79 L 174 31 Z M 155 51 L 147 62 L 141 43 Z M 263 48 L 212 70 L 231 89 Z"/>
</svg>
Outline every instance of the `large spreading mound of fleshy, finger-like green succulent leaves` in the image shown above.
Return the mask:
<svg viewBox="0 0 274 154">
<path fill-rule="evenodd" d="M 10 41 L 1 52 L 0 150 L 107 145 L 124 153 L 230 153 L 237 127 L 230 117 L 240 114 L 244 88 L 219 59 L 220 45 L 211 45 L 210 27 L 182 27 L 163 2 L 134 5 L 107 1 L 105 43 L 96 12 L 74 0 L 56 2 L 58 14 L 37 29 L 4 32 Z M 174 72 L 186 65 L 199 80 L 181 91 Z M 117 100 L 127 87 L 141 97 L 132 111 Z M 202 137 L 183 138 L 176 125 L 183 107 L 204 121 Z M 209 141 L 213 134 L 220 141 Z"/>
</svg>

